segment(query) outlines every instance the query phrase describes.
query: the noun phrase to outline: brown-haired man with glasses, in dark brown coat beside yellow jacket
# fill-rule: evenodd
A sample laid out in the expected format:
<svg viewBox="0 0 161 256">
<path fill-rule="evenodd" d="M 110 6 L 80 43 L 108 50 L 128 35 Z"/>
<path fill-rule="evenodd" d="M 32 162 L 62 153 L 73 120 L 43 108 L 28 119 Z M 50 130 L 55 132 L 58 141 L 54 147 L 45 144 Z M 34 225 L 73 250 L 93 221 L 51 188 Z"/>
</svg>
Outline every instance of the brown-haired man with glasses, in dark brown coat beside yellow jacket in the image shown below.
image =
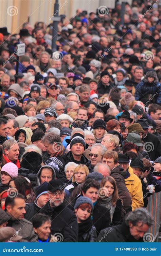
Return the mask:
<svg viewBox="0 0 161 256">
<path fill-rule="evenodd" d="M 102 156 L 102 163 L 106 163 L 111 170 L 110 176 L 117 183 L 119 196 L 123 200 L 126 212 L 131 211 L 131 196 L 125 185 L 126 171 L 119 165 L 118 153 L 112 150 L 107 151 Z"/>
</svg>

